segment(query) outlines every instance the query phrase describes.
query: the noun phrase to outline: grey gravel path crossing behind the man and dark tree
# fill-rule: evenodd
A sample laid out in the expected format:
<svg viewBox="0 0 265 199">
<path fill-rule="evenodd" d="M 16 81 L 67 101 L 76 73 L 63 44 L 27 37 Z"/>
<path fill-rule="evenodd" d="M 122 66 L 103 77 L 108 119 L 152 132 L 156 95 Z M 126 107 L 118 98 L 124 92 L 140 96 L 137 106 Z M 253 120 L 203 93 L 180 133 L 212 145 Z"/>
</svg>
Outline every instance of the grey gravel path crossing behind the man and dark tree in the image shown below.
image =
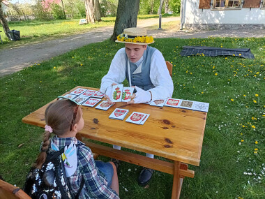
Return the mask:
<svg viewBox="0 0 265 199">
<path fill-rule="evenodd" d="M 151 29 L 151 26 L 158 26 L 158 18 L 139 20 L 137 27 L 148 29 L 148 33 L 154 38 L 208 38 L 209 36 L 229 36 L 229 37 L 264 37 L 265 29 L 255 30 L 218 30 L 218 31 L 179 31 L 179 17 L 162 18 L 162 22 L 176 22 L 176 27 L 172 29 Z M 153 28 L 153 27 L 152 27 Z M 109 38 L 112 35 L 113 27 L 102 27 L 92 29 L 83 34 L 66 36 L 56 40 L 48 40 L 43 43 L 22 45 L 20 47 L 10 47 L 0 50 L 0 76 L 20 71 L 22 68 L 40 63 L 63 54 L 70 50 L 75 50 L 89 43 L 96 43 Z"/>
</svg>

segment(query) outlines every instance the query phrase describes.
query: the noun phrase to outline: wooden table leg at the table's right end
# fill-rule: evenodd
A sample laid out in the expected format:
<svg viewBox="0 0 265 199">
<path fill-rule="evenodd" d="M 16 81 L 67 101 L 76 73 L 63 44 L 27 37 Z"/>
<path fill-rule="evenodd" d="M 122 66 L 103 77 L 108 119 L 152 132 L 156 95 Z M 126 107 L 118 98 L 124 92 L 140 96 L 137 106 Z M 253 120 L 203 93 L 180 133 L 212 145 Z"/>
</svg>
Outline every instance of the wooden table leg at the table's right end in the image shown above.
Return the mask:
<svg viewBox="0 0 265 199">
<path fill-rule="evenodd" d="M 179 199 L 179 196 L 181 196 L 181 186 L 183 178 L 181 178 L 179 175 L 180 168 L 181 168 L 181 163 L 179 161 L 174 161 L 172 199 Z"/>
</svg>

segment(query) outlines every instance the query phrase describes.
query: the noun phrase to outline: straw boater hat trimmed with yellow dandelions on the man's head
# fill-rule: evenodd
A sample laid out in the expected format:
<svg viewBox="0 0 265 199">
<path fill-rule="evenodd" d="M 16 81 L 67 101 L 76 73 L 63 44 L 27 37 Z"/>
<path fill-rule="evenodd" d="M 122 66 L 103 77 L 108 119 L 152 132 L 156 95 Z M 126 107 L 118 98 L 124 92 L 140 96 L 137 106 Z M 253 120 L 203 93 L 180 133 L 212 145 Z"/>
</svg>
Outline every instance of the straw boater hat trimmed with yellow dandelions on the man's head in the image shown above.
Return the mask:
<svg viewBox="0 0 265 199">
<path fill-rule="evenodd" d="M 147 31 L 141 28 L 124 29 L 123 34 L 117 36 L 118 43 L 132 43 L 139 45 L 148 45 L 154 43 L 153 36 L 147 36 Z"/>
</svg>

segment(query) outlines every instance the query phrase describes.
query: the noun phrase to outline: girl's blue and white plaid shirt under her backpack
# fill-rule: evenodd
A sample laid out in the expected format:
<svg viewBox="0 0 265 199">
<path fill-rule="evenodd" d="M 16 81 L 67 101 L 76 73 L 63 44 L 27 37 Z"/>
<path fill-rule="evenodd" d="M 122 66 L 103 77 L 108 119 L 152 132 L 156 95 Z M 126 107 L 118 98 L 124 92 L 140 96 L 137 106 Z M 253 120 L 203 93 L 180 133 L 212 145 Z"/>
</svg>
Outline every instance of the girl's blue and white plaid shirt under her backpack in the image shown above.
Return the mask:
<svg viewBox="0 0 265 199">
<path fill-rule="evenodd" d="M 84 177 L 84 188 L 79 194 L 79 198 L 119 198 L 117 193 L 107 186 L 107 179 L 105 174 L 96 167 L 93 154 L 89 147 L 77 140 L 75 137 L 58 138 L 54 136 L 53 142 L 59 149 L 70 145 L 71 142 L 77 147 L 77 170 L 73 175 L 68 177 L 71 190 L 77 194 L 81 179 Z"/>
</svg>

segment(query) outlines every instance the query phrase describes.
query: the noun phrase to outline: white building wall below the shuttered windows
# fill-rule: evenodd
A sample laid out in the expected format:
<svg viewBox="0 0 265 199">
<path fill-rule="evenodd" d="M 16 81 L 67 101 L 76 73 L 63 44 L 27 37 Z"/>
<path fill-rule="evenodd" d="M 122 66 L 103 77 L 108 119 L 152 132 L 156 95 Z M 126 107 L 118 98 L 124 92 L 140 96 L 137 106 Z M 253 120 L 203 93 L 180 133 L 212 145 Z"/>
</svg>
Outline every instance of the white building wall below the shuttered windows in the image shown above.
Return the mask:
<svg viewBox="0 0 265 199">
<path fill-rule="evenodd" d="M 265 24 L 265 9 L 199 9 L 199 0 L 183 1 L 183 24 Z"/>
</svg>

